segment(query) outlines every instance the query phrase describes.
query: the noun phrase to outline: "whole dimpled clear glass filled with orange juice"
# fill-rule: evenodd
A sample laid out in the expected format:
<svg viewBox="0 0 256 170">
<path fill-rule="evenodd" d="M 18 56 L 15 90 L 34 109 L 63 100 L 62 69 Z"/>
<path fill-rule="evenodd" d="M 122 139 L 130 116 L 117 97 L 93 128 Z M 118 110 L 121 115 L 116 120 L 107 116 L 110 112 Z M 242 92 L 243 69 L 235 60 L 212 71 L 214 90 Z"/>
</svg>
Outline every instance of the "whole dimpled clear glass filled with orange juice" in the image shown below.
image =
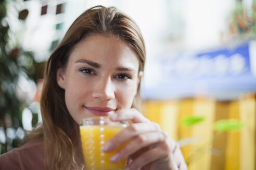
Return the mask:
<svg viewBox="0 0 256 170">
<path fill-rule="evenodd" d="M 122 146 L 112 152 L 104 152 L 103 146 L 113 135 L 127 127 L 129 122 L 114 122 L 107 116 L 90 117 L 83 119 L 80 124 L 80 134 L 84 161 L 88 170 L 124 169 L 126 160 L 118 163 L 110 161 L 111 155 L 116 153 Z M 123 144 L 124 145 L 124 144 Z"/>
</svg>

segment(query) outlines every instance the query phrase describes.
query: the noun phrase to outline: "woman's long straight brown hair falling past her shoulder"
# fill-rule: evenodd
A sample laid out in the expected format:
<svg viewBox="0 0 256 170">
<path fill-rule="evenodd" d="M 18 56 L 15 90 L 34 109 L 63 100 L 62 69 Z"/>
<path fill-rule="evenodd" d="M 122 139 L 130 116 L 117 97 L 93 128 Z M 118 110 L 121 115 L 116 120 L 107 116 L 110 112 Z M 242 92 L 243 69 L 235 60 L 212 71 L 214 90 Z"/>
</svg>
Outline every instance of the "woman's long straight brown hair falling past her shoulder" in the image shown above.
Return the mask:
<svg viewBox="0 0 256 170">
<path fill-rule="evenodd" d="M 57 69 L 67 65 L 73 47 L 89 34 L 118 36 L 137 54 L 139 71 L 144 70 L 145 44 L 137 24 L 114 7 L 95 6 L 86 10 L 70 26 L 46 64 L 41 98 L 42 125 L 29 134 L 29 139 L 43 136 L 45 161 L 49 169 L 83 168 L 79 125 L 65 104 L 65 90 L 56 80 Z M 134 97 L 134 108 L 140 109 L 140 86 Z M 43 135 L 42 135 L 43 134 Z"/>
</svg>

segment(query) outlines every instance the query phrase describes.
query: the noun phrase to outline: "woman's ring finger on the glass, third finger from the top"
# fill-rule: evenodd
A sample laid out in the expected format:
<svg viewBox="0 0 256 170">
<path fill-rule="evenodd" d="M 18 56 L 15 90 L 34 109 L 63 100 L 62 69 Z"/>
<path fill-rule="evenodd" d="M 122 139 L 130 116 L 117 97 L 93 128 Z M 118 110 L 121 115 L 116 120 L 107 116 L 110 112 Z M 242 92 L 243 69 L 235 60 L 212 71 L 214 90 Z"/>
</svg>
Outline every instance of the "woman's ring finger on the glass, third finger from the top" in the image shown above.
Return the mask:
<svg viewBox="0 0 256 170">
<path fill-rule="evenodd" d="M 133 153 L 137 155 L 142 154 L 146 150 L 142 150 L 140 153 L 138 152 L 141 148 L 145 148 L 147 146 L 152 146 L 153 144 L 161 143 L 165 139 L 167 139 L 167 135 L 163 131 L 156 131 L 150 133 L 143 133 L 132 138 L 129 143 L 123 146 L 116 154 L 112 155 L 111 161 L 116 163 L 124 158 L 129 157 Z M 149 147 L 150 148 L 150 147 Z M 148 149 L 149 149 L 148 148 Z"/>
</svg>

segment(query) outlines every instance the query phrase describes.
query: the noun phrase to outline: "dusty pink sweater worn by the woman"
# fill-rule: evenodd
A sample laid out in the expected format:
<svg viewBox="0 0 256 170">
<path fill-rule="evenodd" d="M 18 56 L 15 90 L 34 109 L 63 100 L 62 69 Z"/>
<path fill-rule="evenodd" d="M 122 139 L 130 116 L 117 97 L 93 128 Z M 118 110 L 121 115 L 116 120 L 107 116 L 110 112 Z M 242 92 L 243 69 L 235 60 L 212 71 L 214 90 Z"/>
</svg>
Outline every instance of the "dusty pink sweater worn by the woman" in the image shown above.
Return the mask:
<svg viewBox="0 0 256 170">
<path fill-rule="evenodd" d="M 177 143 L 172 140 L 173 157 L 178 169 L 186 170 L 182 152 Z M 0 170 L 16 169 L 46 169 L 44 163 L 44 142 L 35 141 L 27 143 L 20 148 L 0 155 Z"/>
</svg>

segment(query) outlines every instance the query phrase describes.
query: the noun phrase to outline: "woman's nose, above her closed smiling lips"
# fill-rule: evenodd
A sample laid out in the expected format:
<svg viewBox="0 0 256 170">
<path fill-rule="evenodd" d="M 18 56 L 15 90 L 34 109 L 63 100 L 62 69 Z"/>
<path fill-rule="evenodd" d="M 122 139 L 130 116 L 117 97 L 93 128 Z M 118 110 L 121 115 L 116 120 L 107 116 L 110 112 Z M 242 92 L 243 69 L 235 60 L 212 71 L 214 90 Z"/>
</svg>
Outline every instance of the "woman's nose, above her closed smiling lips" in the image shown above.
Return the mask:
<svg viewBox="0 0 256 170">
<path fill-rule="evenodd" d="M 93 98 L 100 98 L 101 100 L 112 100 L 114 97 L 113 82 L 110 78 L 101 80 L 95 84 Z"/>
</svg>

